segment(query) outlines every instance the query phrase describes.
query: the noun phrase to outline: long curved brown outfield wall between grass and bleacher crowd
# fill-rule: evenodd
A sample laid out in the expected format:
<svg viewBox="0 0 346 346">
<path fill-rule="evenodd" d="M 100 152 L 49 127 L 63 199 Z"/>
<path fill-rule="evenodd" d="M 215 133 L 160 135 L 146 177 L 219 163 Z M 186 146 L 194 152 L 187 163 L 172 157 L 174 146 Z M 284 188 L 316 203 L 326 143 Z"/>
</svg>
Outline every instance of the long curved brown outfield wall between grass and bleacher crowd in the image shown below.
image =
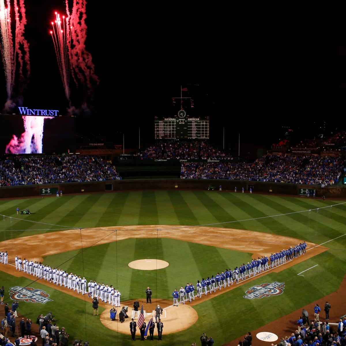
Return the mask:
<svg viewBox="0 0 346 346">
<path fill-rule="evenodd" d="M 253 193 L 273 193 L 288 195 L 304 195 L 307 189 L 316 190 L 316 197 L 321 198 L 345 198 L 346 186 L 325 186 L 321 185 L 300 185 L 258 181 L 240 180 L 213 180 L 213 179 L 139 179 L 139 180 L 111 180 L 95 181 L 83 183 L 61 183 L 61 184 L 42 184 L 42 185 L 22 185 L 22 186 L 1 186 L 0 198 L 20 198 L 20 197 L 43 197 L 56 196 L 55 193 L 49 194 L 49 189 L 56 191 L 62 190 L 63 194 L 75 193 L 95 193 L 126 190 L 206 190 L 209 185 L 215 186 L 222 191 L 234 192 L 237 186 L 237 193 L 242 193 L 242 187 L 246 193 L 252 186 Z M 43 191 L 44 190 L 44 191 Z M 212 192 L 212 191 L 211 191 Z M 311 197 L 311 192 L 310 192 Z"/>
</svg>

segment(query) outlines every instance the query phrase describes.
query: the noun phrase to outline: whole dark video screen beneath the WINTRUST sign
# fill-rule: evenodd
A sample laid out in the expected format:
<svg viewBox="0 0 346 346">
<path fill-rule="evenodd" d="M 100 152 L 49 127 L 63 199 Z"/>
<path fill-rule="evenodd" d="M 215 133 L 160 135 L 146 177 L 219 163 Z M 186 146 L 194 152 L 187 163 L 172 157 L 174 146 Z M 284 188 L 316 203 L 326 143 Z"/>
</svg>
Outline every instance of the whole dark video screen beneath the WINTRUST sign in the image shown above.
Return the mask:
<svg viewBox="0 0 346 346">
<path fill-rule="evenodd" d="M 75 152 L 75 118 L 0 115 L 0 154 Z"/>
</svg>

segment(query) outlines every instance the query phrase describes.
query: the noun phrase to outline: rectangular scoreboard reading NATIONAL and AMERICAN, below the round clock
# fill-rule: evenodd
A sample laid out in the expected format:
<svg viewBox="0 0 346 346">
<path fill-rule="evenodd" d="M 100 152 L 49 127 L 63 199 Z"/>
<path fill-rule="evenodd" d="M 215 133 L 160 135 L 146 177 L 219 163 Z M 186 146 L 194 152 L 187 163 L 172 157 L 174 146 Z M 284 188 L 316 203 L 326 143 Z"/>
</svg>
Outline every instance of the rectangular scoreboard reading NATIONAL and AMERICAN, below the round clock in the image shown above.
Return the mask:
<svg viewBox="0 0 346 346">
<path fill-rule="evenodd" d="M 162 118 L 154 121 L 155 139 L 209 139 L 207 118 Z"/>
</svg>

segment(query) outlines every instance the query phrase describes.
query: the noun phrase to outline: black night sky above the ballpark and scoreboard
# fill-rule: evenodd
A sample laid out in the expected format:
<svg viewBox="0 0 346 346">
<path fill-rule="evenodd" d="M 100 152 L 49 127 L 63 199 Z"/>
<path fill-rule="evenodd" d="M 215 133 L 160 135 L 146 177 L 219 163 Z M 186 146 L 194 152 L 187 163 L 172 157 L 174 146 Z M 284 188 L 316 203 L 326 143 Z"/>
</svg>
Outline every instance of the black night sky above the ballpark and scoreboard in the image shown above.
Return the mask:
<svg viewBox="0 0 346 346">
<path fill-rule="evenodd" d="M 85 85 L 76 89 L 71 79 L 78 130 L 116 142 L 125 137 L 131 146 L 140 128 L 144 142 L 154 141 L 153 119 L 174 115 L 172 97 L 180 96 L 181 85 L 188 89 L 183 96 L 193 99 L 191 115 L 210 117 L 211 141 L 219 146 L 224 134 L 227 145 L 239 136 L 243 143 L 278 143 L 283 125 L 293 129 L 294 140 L 345 128 L 344 6 L 225 11 L 99 3 L 86 4 L 85 46 L 100 80 L 87 110 L 80 109 Z M 65 14 L 65 3 L 26 0 L 25 8 L 31 77 L 23 105 L 65 115 L 68 103 L 49 34 L 54 12 Z M 6 83 L 0 86 L 4 104 Z"/>
</svg>

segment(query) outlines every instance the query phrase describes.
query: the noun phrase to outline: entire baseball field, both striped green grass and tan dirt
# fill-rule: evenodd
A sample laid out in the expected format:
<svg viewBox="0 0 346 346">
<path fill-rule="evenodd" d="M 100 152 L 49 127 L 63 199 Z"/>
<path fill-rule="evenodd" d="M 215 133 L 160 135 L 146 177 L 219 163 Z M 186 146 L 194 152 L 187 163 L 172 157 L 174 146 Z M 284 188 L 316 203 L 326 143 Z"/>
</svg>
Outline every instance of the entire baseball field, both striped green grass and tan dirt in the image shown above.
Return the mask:
<svg viewBox="0 0 346 346">
<path fill-rule="evenodd" d="M 14 215 L 12 206 L 19 203 L 29 206 L 31 214 Z M 287 334 L 286 328 L 296 328 L 286 315 L 299 314 L 303 307 L 318 299 L 323 301 L 337 291 L 344 279 L 344 273 L 337 275 L 333 264 L 344 261 L 338 250 L 345 245 L 340 225 L 346 219 L 343 203 L 329 201 L 326 206 L 321 200 L 247 194 L 238 197 L 230 192 L 210 197 L 205 191 L 131 191 L 1 200 L 4 216 L 0 250 L 7 250 L 9 257 L 8 265 L 0 264 L 5 300 L 11 302 L 8 292 L 14 286 L 40 289 L 52 301 L 21 302 L 19 312 L 23 316 L 34 320 L 36 315 L 54 310 L 55 316 L 60 315 L 59 325 L 71 328 L 71 339 L 88 340 L 90 345 L 98 345 L 97 340 L 114 340 L 116 345 L 131 342 L 129 320 L 121 323 L 116 315 L 116 320 L 111 321 L 108 302 L 100 301 L 99 316 L 93 318 L 88 294 L 19 272 L 15 266 L 18 254 L 52 268 L 63 267 L 85 276 L 87 282 L 112 284 L 121 292 L 121 307 L 131 310 L 135 299 L 143 303 L 146 322 L 153 316 L 156 304 L 160 304 L 165 311 L 162 345 L 191 345 L 199 341 L 203 332 L 222 345 L 234 345 L 248 330 L 254 336 L 258 331 L 276 332 L 280 337 Z M 172 222 L 179 219 L 185 220 L 183 225 Z M 163 220 L 169 223 L 157 222 Z M 62 224 L 65 226 L 58 226 Z M 202 276 L 233 269 L 304 241 L 306 254 L 207 296 L 202 294 L 202 298 L 197 298 L 194 291 L 194 300 L 173 307 L 174 288 L 179 289 L 186 282 L 195 285 Z M 316 283 L 316 275 L 325 275 L 326 284 Z M 281 294 L 244 298 L 252 288 L 274 282 L 283 284 Z M 145 301 L 148 285 L 153 289 L 152 304 Z M 301 292 L 304 285 L 309 294 Z M 334 312 L 336 305 L 332 305 Z M 260 310 L 263 319 L 251 318 L 254 310 Z M 280 318 L 285 319 L 281 330 L 263 323 L 275 323 Z M 218 331 L 221 321 L 228 326 L 223 333 Z M 231 327 L 234 325 L 238 325 L 235 330 Z M 94 328 L 102 335 L 94 335 Z M 139 331 L 137 335 L 139 339 Z M 157 340 L 156 330 L 154 336 Z M 257 345 L 261 343 L 265 341 L 256 341 Z"/>
</svg>

